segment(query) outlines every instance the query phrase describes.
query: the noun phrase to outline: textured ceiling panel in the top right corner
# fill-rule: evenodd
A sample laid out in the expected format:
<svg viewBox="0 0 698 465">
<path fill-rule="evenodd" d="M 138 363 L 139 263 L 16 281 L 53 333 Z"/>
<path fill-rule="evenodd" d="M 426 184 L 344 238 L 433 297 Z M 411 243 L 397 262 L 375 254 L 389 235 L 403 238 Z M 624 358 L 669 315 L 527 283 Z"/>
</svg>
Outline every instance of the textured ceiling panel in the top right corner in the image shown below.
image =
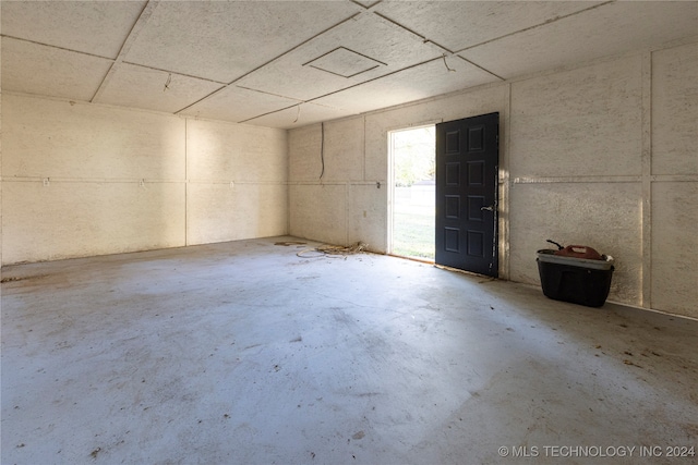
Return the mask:
<svg viewBox="0 0 698 465">
<path fill-rule="evenodd" d="M 698 2 L 616 2 L 460 52 L 503 77 L 695 36 Z"/>
</svg>

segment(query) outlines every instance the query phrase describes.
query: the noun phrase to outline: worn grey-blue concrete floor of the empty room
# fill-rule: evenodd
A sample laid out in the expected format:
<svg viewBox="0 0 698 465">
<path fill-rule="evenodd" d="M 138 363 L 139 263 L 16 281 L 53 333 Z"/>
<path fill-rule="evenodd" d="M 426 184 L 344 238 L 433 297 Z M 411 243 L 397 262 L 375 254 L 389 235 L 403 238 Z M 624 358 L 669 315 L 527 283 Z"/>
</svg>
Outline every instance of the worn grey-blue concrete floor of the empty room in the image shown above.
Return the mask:
<svg viewBox="0 0 698 465">
<path fill-rule="evenodd" d="M 5 267 L 2 463 L 698 461 L 698 321 L 279 240 Z"/>
</svg>

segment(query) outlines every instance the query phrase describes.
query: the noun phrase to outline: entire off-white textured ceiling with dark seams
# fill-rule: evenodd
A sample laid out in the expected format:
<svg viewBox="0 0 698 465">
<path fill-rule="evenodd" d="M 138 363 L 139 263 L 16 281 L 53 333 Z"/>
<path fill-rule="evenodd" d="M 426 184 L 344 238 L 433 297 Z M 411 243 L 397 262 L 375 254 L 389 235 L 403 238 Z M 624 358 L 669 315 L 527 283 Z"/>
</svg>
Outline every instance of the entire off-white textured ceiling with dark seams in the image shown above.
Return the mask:
<svg viewBox="0 0 698 465">
<path fill-rule="evenodd" d="M 697 1 L 12 1 L 2 90 L 290 129 L 698 35 Z"/>
</svg>

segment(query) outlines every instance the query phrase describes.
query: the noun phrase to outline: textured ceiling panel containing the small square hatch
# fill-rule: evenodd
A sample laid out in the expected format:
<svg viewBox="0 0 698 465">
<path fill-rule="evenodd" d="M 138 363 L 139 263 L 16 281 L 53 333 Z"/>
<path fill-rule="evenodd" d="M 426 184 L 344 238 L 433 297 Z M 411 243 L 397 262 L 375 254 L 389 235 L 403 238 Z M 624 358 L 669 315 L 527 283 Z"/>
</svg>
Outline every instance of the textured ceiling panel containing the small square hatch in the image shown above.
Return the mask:
<svg viewBox="0 0 698 465">
<path fill-rule="evenodd" d="M 353 56 L 334 60 L 335 70 L 350 70 L 356 54 L 365 58 L 366 69 L 356 75 L 350 71 L 329 73 L 312 64 L 333 51 L 345 49 Z M 358 83 L 399 71 L 435 57 L 441 52 L 425 45 L 416 35 L 395 26 L 372 13 L 348 21 L 315 37 L 273 63 L 244 76 L 237 84 L 275 93 L 300 100 L 310 100 Z M 371 66 L 368 64 L 372 63 Z M 377 64 L 377 65 L 376 65 Z M 361 66 L 354 66 L 361 70 Z M 340 75 L 347 72 L 348 77 Z M 312 83 L 312 85 L 309 85 Z"/>
</svg>

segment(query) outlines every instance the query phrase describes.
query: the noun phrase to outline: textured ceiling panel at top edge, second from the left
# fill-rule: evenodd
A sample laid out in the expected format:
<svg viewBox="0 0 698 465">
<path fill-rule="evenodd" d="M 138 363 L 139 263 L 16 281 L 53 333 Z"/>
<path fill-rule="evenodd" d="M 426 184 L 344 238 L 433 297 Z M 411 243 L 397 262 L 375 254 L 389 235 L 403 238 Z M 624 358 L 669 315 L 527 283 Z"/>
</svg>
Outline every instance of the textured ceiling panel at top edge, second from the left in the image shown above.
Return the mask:
<svg viewBox="0 0 698 465">
<path fill-rule="evenodd" d="M 125 61 L 230 83 L 360 10 L 348 1 L 160 2 Z"/>
</svg>

